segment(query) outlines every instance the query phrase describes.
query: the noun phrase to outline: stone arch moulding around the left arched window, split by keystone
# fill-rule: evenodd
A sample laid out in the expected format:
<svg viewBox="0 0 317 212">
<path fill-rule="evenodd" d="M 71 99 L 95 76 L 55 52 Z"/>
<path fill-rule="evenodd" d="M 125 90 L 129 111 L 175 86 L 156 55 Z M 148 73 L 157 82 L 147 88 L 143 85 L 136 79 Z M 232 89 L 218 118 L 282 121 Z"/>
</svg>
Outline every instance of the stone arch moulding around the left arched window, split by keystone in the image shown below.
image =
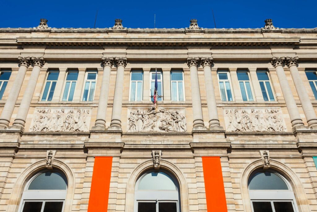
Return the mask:
<svg viewBox="0 0 317 212">
<path fill-rule="evenodd" d="M 37 161 L 26 168 L 17 178 L 16 183 L 13 186 L 11 198 L 8 204 L 8 212 L 17 212 L 19 204 L 21 202 L 22 193 L 24 191 L 26 183 L 32 178 L 34 174 L 46 168 L 46 160 Z M 59 169 L 67 178 L 67 195 L 65 199 L 64 211 L 71 211 L 73 204 L 74 192 L 75 192 L 75 177 L 71 168 L 64 162 L 54 159 L 53 169 Z"/>
</svg>

